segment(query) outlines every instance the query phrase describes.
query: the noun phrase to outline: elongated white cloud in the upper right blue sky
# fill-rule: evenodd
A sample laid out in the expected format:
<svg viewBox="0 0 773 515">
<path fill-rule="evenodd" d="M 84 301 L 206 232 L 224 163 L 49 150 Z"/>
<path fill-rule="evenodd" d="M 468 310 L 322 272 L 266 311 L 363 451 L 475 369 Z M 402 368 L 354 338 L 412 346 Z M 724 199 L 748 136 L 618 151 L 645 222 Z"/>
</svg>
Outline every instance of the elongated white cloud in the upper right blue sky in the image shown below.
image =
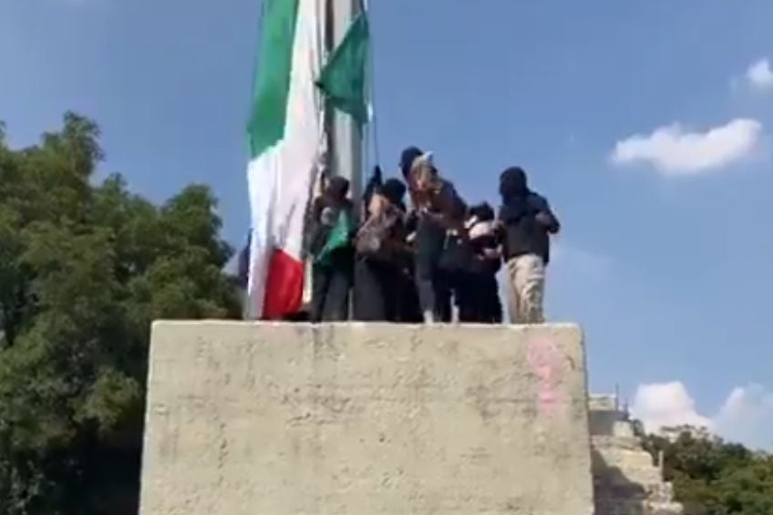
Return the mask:
<svg viewBox="0 0 773 515">
<path fill-rule="evenodd" d="M 747 158 L 758 147 L 762 124 L 737 118 L 705 132 L 685 131 L 679 123 L 618 141 L 616 165 L 647 163 L 664 175 L 696 175 Z"/>
</svg>

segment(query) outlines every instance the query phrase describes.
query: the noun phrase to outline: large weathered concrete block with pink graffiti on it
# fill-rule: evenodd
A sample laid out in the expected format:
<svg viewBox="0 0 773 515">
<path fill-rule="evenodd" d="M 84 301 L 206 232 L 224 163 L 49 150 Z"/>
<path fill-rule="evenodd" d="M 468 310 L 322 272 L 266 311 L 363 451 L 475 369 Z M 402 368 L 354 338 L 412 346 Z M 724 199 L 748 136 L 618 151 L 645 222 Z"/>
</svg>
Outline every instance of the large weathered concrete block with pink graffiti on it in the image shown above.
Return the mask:
<svg viewBox="0 0 773 515">
<path fill-rule="evenodd" d="M 582 335 L 154 324 L 142 515 L 591 515 Z"/>
</svg>

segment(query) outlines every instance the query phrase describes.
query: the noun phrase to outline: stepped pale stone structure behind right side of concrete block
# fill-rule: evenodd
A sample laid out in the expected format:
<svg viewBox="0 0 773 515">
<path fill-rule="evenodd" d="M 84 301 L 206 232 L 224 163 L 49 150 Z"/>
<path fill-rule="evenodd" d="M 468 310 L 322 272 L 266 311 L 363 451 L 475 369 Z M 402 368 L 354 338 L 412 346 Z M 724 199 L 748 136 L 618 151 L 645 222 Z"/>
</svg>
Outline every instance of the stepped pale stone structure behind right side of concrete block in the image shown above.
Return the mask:
<svg viewBox="0 0 773 515">
<path fill-rule="evenodd" d="M 679 515 L 671 485 L 615 396 L 590 398 L 596 515 Z"/>
</svg>

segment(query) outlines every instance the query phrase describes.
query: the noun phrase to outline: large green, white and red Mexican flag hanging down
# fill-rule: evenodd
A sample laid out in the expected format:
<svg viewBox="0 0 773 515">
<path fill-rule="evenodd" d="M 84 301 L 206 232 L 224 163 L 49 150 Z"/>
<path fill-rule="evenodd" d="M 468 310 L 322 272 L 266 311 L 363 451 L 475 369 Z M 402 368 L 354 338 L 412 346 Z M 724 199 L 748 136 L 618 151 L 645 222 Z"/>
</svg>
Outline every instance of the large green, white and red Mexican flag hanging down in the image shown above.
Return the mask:
<svg viewBox="0 0 773 515">
<path fill-rule="evenodd" d="M 325 105 L 329 100 L 358 120 L 366 112 L 365 14 L 327 57 L 325 14 L 335 1 L 263 0 L 248 124 L 249 318 L 275 320 L 300 310 L 304 219 L 322 169 Z"/>
</svg>

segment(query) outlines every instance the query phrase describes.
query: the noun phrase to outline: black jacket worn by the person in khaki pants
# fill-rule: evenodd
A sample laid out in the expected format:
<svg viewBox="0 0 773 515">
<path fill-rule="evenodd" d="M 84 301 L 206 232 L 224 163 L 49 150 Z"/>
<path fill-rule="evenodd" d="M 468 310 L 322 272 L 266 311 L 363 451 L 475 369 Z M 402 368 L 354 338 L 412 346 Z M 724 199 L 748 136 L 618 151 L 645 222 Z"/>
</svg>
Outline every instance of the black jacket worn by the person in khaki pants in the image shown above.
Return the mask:
<svg viewBox="0 0 773 515">
<path fill-rule="evenodd" d="M 547 217 L 548 224 L 537 220 L 539 213 Z M 548 201 L 530 191 L 524 198 L 501 206 L 499 219 L 505 261 L 526 254 L 537 254 L 545 264 L 550 263 L 550 234 L 559 232 L 561 224 L 551 211 Z"/>
</svg>

